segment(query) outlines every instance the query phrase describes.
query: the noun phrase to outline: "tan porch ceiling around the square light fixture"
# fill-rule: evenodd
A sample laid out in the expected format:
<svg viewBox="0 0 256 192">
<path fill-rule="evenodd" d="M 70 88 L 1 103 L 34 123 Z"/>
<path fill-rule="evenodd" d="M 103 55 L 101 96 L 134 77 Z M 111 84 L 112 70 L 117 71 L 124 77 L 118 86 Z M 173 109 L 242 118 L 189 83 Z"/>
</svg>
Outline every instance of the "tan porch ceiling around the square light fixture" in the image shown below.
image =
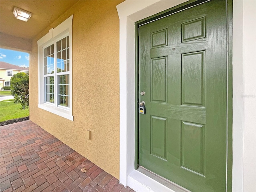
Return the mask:
<svg viewBox="0 0 256 192">
<path fill-rule="evenodd" d="M 1 0 L 0 32 L 3 37 L 32 40 L 52 22 L 66 12 L 78 0 Z M 18 20 L 13 15 L 14 7 L 32 13 L 28 22 Z"/>
</svg>

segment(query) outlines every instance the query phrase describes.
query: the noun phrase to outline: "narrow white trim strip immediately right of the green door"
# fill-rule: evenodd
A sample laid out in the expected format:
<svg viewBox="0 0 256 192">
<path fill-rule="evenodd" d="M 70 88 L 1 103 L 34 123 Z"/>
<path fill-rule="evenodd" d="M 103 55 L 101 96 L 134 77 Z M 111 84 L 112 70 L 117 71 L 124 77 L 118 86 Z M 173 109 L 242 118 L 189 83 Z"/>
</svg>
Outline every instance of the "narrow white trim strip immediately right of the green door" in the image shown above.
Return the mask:
<svg viewBox="0 0 256 192">
<path fill-rule="evenodd" d="M 233 191 L 243 190 L 244 75 L 243 75 L 243 1 L 233 2 Z M 236 13 L 236 14 L 235 14 Z M 239 37 L 239 40 L 236 38 Z"/>
</svg>

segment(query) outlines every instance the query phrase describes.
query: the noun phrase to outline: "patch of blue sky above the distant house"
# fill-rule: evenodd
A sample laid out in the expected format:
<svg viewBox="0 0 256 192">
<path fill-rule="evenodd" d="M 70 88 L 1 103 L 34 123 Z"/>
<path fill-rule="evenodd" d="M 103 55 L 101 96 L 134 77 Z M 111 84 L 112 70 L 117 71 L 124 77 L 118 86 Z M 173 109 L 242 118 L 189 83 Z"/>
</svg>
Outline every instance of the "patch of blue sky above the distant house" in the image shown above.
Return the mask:
<svg viewBox="0 0 256 192">
<path fill-rule="evenodd" d="M 20 67 L 29 67 L 29 54 L 0 48 L 0 61 Z"/>
</svg>

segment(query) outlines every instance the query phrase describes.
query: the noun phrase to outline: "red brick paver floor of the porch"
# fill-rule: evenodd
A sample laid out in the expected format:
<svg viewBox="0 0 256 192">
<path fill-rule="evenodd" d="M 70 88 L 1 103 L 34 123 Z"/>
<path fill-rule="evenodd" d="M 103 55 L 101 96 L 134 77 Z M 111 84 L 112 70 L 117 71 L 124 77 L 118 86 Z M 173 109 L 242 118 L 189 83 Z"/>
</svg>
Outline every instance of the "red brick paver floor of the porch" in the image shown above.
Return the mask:
<svg viewBox="0 0 256 192">
<path fill-rule="evenodd" d="M 1 192 L 134 192 L 30 120 L 0 126 L 0 148 Z"/>
</svg>

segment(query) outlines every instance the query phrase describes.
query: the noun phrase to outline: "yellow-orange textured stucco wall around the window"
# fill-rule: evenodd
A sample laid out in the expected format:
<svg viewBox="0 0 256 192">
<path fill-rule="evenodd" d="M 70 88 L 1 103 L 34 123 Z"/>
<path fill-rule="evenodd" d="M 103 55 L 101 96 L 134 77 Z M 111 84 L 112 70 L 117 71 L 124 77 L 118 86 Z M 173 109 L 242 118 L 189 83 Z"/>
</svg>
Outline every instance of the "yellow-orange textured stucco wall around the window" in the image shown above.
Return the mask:
<svg viewBox="0 0 256 192">
<path fill-rule="evenodd" d="M 119 178 L 119 18 L 122 1 L 79 1 L 32 42 L 30 120 Z M 47 13 L 46 13 L 47 14 Z M 38 108 L 37 40 L 73 16 L 73 116 Z M 92 131 L 92 139 L 86 138 Z"/>
</svg>

